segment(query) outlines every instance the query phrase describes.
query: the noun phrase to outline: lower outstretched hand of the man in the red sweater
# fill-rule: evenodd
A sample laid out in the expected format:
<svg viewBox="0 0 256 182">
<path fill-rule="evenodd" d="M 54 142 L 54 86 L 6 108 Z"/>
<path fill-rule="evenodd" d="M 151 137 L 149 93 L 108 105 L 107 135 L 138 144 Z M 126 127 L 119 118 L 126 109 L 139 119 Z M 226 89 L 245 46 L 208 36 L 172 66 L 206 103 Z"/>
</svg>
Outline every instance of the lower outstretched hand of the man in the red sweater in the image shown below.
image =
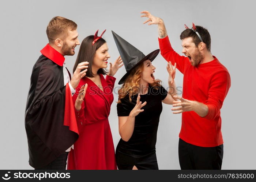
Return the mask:
<svg viewBox="0 0 256 182">
<path fill-rule="evenodd" d="M 172 108 L 173 114 L 179 114 L 182 112 L 187 112 L 187 111 L 193 111 L 193 106 L 195 104 L 195 101 L 192 100 L 187 100 L 182 98 L 181 96 L 173 96 L 175 99 L 179 99 L 179 101 L 173 101 L 173 107 L 176 108 Z M 178 107 L 181 106 L 181 107 Z"/>
</svg>

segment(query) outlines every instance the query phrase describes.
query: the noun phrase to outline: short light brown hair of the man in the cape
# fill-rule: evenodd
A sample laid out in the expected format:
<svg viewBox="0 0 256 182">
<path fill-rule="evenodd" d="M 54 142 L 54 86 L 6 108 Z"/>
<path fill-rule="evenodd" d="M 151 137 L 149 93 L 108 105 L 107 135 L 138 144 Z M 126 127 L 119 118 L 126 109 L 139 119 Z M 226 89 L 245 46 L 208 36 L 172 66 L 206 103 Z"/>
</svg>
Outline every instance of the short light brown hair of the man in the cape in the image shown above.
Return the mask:
<svg viewBox="0 0 256 182">
<path fill-rule="evenodd" d="M 72 20 L 61 16 L 53 17 L 46 28 L 49 43 L 53 43 L 57 38 L 65 40 L 68 36 L 68 30 L 73 31 L 76 28 L 77 24 Z"/>
</svg>

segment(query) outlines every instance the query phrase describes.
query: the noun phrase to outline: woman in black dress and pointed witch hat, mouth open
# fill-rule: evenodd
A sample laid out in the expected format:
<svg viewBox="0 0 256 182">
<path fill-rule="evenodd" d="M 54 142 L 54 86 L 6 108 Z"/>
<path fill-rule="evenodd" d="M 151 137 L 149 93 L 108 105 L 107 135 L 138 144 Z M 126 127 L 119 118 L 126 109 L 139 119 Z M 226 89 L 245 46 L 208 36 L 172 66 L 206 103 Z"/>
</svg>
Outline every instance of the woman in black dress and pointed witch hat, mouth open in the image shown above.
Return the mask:
<svg viewBox="0 0 256 182">
<path fill-rule="evenodd" d="M 173 104 L 176 94 L 175 69 L 168 63 L 168 92 L 155 80 L 152 61 L 155 50 L 145 56 L 113 32 L 118 51 L 127 73 L 118 84 L 117 114 L 121 139 L 116 148 L 118 169 L 158 169 L 155 144 L 162 102 Z M 124 52 L 126 51 L 126 52 Z M 132 54 L 132 56 L 128 56 Z"/>
</svg>

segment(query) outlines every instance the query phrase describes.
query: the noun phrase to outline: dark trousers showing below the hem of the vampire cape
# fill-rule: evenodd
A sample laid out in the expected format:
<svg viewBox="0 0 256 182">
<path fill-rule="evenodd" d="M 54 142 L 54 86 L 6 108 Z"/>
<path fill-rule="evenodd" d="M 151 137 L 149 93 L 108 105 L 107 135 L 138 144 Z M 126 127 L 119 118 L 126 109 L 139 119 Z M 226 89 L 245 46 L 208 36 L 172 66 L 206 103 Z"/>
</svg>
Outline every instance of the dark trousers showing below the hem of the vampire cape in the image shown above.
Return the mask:
<svg viewBox="0 0 256 182">
<path fill-rule="evenodd" d="M 35 168 L 35 170 L 48 170 L 48 169 L 56 169 L 56 170 L 65 170 L 67 165 L 68 152 L 61 154 L 54 161 L 49 163 L 44 167 Z"/>
</svg>

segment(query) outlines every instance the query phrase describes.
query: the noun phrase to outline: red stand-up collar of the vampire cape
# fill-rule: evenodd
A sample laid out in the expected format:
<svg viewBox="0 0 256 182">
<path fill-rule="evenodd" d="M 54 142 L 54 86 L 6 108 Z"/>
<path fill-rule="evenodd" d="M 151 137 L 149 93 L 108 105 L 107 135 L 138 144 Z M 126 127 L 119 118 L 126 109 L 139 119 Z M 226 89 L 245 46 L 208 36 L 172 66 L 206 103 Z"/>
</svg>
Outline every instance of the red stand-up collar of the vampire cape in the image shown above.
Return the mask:
<svg viewBox="0 0 256 182">
<path fill-rule="evenodd" d="M 54 63 L 58 64 L 59 66 L 63 66 L 65 58 L 61 55 L 58 51 L 56 51 L 53 47 L 47 44 L 41 51 L 42 55 L 46 58 L 49 58 Z"/>
</svg>

